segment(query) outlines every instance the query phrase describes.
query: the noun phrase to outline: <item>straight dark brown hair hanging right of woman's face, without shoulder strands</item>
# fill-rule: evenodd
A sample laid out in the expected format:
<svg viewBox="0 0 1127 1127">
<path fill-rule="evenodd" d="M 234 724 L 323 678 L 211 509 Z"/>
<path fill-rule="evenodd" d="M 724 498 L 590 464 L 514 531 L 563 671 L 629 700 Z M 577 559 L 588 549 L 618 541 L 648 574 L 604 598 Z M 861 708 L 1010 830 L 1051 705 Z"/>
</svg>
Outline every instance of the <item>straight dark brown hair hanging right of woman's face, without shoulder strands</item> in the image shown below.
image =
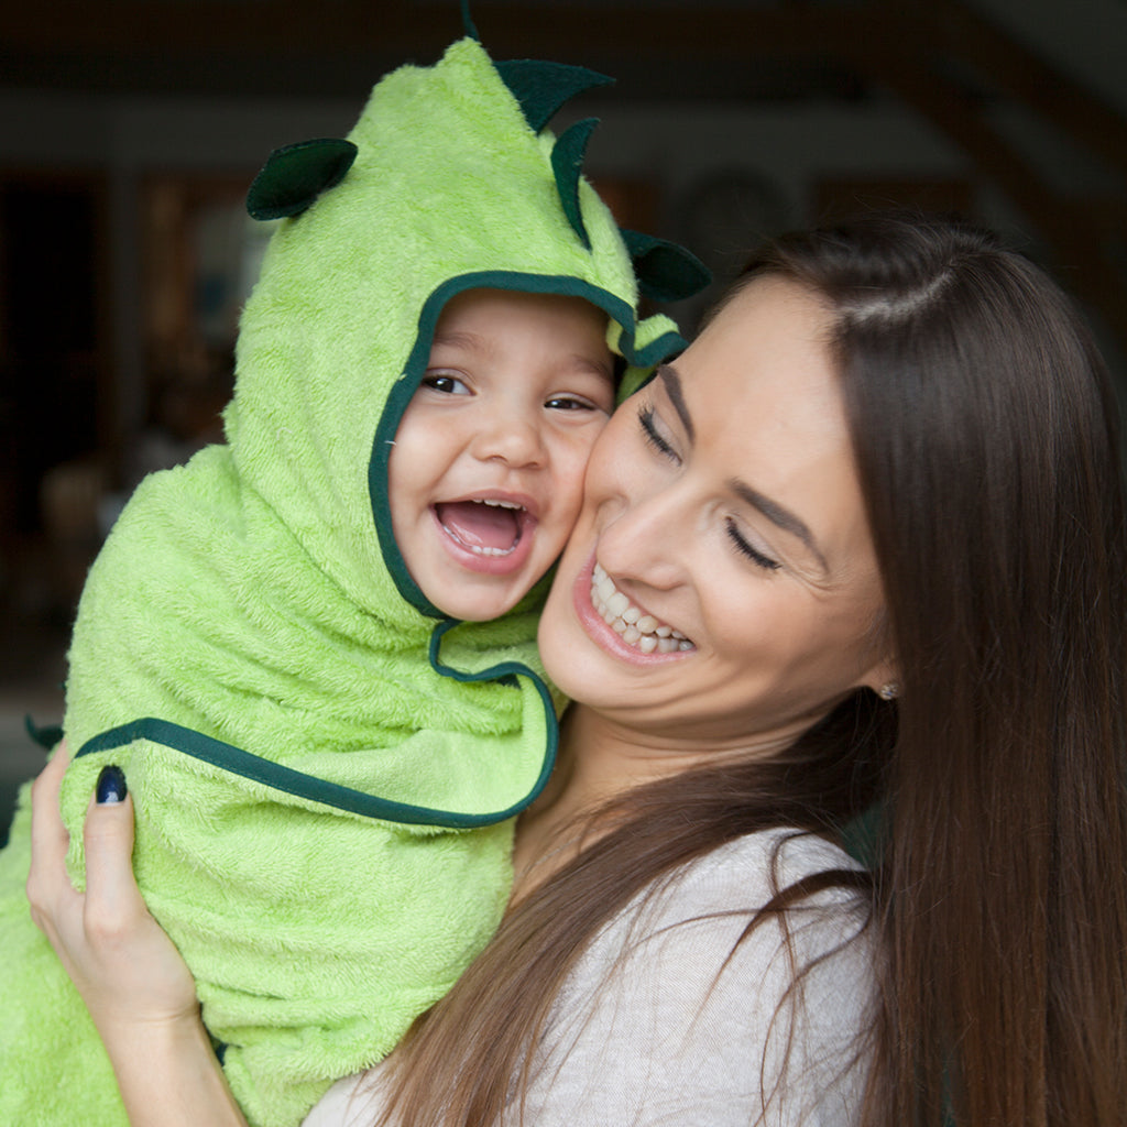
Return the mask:
<svg viewBox="0 0 1127 1127">
<path fill-rule="evenodd" d="M 837 314 L 903 696 L 877 873 L 882 1124 L 1127 1117 L 1118 411 L 1071 302 L 983 232 L 781 240 Z"/>
</svg>

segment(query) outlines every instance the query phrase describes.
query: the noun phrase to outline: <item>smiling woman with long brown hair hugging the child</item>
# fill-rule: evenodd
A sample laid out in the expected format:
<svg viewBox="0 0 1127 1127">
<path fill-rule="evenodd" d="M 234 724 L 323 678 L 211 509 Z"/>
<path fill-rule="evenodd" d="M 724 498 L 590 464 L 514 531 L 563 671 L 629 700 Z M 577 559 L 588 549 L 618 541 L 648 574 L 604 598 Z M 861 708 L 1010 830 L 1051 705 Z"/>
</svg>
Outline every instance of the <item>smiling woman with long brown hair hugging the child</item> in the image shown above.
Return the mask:
<svg viewBox="0 0 1127 1127">
<path fill-rule="evenodd" d="M 596 447 L 540 635 L 577 703 L 500 932 L 310 1122 L 1121 1122 L 1116 415 L 986 236 L 770 247 Z M 127 804 L 91 808 L 83 903 L 56 774 L 29 890 L 135 1122 L 239 1122 Z M 871 807 L 864 873 L 832 843 Z"/>
</svg>

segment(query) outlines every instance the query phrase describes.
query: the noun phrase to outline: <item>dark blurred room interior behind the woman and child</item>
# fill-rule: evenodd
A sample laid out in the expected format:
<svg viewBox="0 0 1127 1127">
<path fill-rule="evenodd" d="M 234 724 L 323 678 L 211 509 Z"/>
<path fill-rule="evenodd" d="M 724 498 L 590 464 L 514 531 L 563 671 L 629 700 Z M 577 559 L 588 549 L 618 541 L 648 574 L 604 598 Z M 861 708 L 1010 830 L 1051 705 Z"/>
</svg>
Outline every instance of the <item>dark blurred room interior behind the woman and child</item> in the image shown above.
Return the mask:
<svg viewBox="0 0 1127 1127">
<path fill-rule="evenodd" d="M 1049 266 L 1127 382 L 1127 0 L 476 0 L 494 59 L 618 81 L 585 168 L 730 276 L 864 206 L 958 211 Z M 0 841 L 43 762 L 86 570 L 147 472 L 220 436 L 274 148 L 462 34 L 455 0 L 0 11 Z M 669 310 L 692 331 L 708 299 Z"/>
</svg>

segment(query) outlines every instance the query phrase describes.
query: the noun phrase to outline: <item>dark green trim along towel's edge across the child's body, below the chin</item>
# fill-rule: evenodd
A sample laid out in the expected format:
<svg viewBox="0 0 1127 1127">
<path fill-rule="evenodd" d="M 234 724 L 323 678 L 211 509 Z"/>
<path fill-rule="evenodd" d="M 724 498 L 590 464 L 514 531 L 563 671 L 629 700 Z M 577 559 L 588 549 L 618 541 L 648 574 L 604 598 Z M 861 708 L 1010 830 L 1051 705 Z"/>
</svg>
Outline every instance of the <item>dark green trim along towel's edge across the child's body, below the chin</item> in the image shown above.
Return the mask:
<svg viewBox="0 0 1127 1127">
<path fill-rule="evenodd" d="M 498 666 L 497 668 L 502 667 Z M 541 691 L 541 694 L 547 692 L 535 674 L 529 669 L 524 669 L 523 666 L 516 666 L 515 668 L 522 669 L 527 676 L 531 676 L 536 687 Z M 454 674 L 451 673 L 450 675 L 453 676 Z M 488 674 L 483 674 L 482 676 L 488 676 Z M 481 680 L 481 677 L 459 677 L 459 680 Z M 406 825 L 472 829 L 504 822 L 506 818 L 520 813 L 543 789 L 547 774 L 550 773 L 552 763 L 554 762 L 558 742 L 556 712 L 554 709 L 551 709 L 550 702 L 547 712 L 551 718 L 551 726 L 548 729 L 549 754 L 545 756 L 545 765 L 540 778 L 536 780 L 535 787 L 523 801 L 516 802 L 504 810 L 487 814 L 434 810 L 425 806 L 411 806 L 407 802 L 396 802 L 391 799 L 379 798 L 375 795 L 366 795 L 364 791 L 354 790 L 352 787 L 329 782 L 327 779 L 318 779 L 316 775 L 307 774 L 303 771 L 294 771 L 292 767 L 283 766 L 281 763 L 274 763 L 270 760 L 263 758 L 260 755 L 254 755 L 241 747 L 236 747 L 233 744 L 225 744 L 221 739 L 214 739 L 211 736 L 203 735 L 203 733 L 194 731 L 192 728 L 181 727 L 169 720 L 159 720 L 156 717 L 143 717 L 140 720 L 133 720 L 117 728 L 110 728 L 95 736 L 92 739 L 88 739 L 78 749 L 74 758 L 124 747 L 136 739 L 148 739 L 150 743 L 160 744 L 176 752 L 183 752 L 193 758 L 210 763 L 222 771 L 231 772 L 231 774 L 241 775 L 243 779 L 250 779 L 273 790 L 293 795 L 307 801 L 320 802 L 322 806 L 329 806 L 337 810 L 358 814 L 365 818 L 378 818 L 381 822 L 396 822 Z"/>
</svg>

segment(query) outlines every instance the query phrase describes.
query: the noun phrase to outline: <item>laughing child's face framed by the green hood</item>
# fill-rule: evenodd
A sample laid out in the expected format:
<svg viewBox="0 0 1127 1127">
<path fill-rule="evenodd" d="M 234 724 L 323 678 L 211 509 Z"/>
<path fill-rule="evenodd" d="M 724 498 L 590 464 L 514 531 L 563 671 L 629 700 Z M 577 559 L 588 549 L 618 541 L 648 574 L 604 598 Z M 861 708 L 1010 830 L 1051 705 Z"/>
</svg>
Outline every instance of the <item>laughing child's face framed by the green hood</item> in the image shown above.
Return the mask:
<svg viewBox="0 0 1127 1127">
<path fill-rule="evenodd" d="M 388 464 L 396 542 L 435 606 L 485 621 L 527 594 L 571 533 L 613 405 L 594 305 L 505 290 L 447 303 Z"/>
</svg>

